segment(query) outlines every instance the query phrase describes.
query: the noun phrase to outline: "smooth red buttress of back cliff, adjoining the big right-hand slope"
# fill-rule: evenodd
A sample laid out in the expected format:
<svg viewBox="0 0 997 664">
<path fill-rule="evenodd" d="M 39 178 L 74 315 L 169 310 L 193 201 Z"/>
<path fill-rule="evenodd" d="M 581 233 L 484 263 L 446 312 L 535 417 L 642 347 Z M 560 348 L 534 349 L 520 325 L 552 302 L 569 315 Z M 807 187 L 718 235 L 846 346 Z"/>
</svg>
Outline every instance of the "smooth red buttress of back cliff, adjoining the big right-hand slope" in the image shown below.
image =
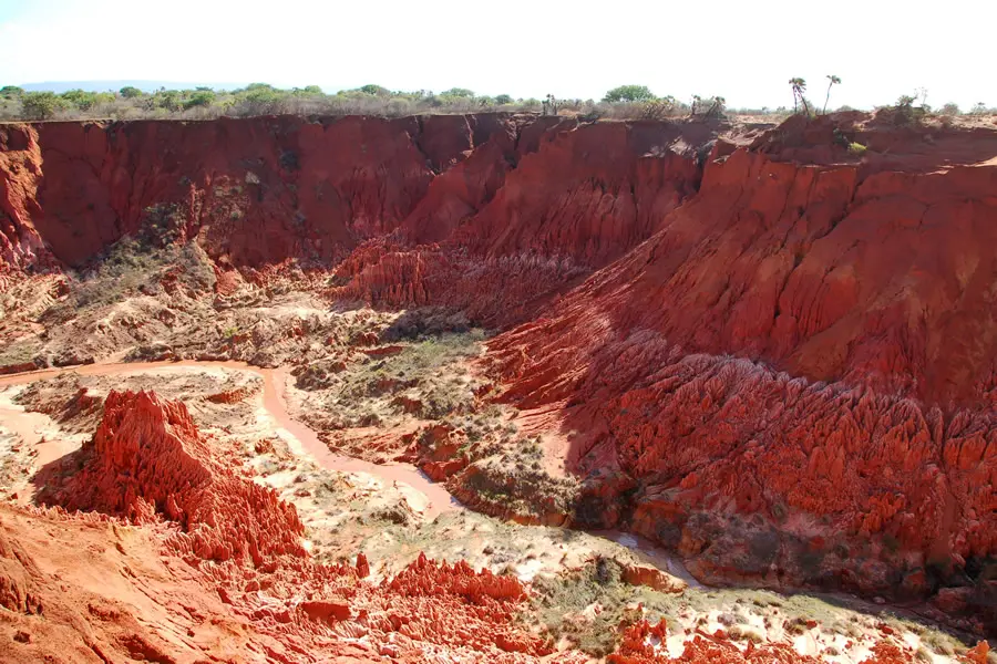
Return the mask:
<svg viewBox="0 0 997 664">
<path fill-rule="evenodd" d="M 531 252 L 606 264 L 698 187 L 692 155 L 671 149 L 681 138 L 677 126 L 660 123 L 554 127 L 453 241 L 489 257 Z"/>
</svg>

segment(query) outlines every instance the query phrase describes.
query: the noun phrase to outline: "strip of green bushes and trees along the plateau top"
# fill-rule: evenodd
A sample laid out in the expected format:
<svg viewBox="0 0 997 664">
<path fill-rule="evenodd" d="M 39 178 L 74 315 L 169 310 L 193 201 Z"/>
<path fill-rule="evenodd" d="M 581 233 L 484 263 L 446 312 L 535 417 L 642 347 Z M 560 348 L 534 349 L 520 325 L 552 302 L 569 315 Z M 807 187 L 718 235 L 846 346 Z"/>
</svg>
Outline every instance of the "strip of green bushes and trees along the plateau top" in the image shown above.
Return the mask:
<svg viewBox="0 0 997 664">
<path fill-rule="evenodd" d="M 54 92 L 28 92 L 16 85 L 0 87 L 0 121 L 3 120 L 212 120 L 220 116 L 246 117 L 255 115 L 379 115 L 401 117 L 413 114 L 451 114 L 472 112 L 532 112 L 543 114 L 579 115 L 589 120 L 599 117 L 617 120 L 662 120 L 666 117 L 721 117 L 734 115 L 785 116 L 791 113 L 826 113 L 832 89 L 842 80 L 826 76 L 829 84 L 823 106 L 814 104 L 806 96 L 806 81 L 790 79 L 793 106 L 777 108 L 729 108 L 727 100 L 720 95 L 689 97 L 674 95 L 659 96 L 647 85 L 627 84 L 614 87 L 602 100 L 555 98 L 546 95 L 538 100 L 516 98 L 510 94 L 484 95 L 466 87 L 451 87 L 442 92 L 418 90 L 412 92 L 392 91 L 381 85 L 368 84 L 354 90 L 326 93 L 318 85 L 279 89 L 267 83 L 253 83 L 238 90 L 194 90 L 143 91 L 135 86 L 124 86 L 117 91 L 93 92 L 70 90 L 61 94 Z M 925 113 L 931 107 L 925 103 L 926 90 L 909 95 L 919 101 L 917 108 Z M 904 97 L 902 97 L 903 100 Z M 904 106 L 905 104 L 897 104 Z M 913 102 L 909 104 L 913 105 Z M 886 108 L 896 106 L 884 106 Z M 850 110 L 842 106 L 839 111 Z M 978 103 L 968 112 L 970 115 L 997 113 L 986 104 Z M 943 116 L 960 115 L 956 104 L 945 104 Z M 915 114 L 916 115 L 916 114 Z M 913 117 L 913 115 L 912 115 Z"/>
</svg>

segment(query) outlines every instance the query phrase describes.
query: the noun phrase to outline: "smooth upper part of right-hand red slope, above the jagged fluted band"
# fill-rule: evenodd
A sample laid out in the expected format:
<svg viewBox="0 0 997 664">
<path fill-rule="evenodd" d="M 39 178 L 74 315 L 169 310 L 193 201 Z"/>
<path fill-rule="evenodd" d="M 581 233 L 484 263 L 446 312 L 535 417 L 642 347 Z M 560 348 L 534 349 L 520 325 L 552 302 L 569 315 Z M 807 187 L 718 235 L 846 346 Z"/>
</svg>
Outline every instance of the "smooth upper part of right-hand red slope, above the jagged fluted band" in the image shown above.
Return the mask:
<svg viewBox="0 0 997 664">
<path fill-rule="evenodd" d="M 987 402 L 997 168 L 860 181 L 853 166 L 723 159 L 650 241 L 557 313 L 600 309 L 607 331 L 651 329 L 690 353 L 812 380 Z M 658 305 L 643 307 L 647 297 Z"/>
</svg>

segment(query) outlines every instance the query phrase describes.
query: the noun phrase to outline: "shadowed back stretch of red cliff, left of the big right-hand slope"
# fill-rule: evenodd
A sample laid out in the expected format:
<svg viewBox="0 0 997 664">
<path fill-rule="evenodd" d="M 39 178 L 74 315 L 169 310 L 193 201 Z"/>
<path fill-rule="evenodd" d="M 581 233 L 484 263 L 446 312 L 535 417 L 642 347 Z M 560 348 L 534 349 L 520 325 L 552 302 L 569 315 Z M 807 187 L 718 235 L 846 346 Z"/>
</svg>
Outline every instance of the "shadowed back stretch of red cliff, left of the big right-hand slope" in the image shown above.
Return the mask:
<svg viewBox="0 0 997 664">
<path fill-rule="evenodd" d="M 490 324 L 646 239 L 698 187 L 712 135 L 503 114 L 6 127 L 0 231 L 16 268 L 53 263 L 47 248 L 78 264 L 123 235 L 196 239 L 223 268 L 347 259 L 337 295 Z"/>
</svg>

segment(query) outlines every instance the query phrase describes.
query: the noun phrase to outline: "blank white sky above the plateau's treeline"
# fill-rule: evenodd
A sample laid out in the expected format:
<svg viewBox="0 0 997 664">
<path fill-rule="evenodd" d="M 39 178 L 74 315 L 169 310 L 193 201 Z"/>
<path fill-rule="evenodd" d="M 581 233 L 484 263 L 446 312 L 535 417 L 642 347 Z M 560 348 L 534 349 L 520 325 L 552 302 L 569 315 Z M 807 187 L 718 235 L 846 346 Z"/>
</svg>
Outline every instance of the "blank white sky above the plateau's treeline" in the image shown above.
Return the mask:
<svg viewBox="0 0 997 664">
<path fill-rule="evenodd" d="M 160 80 L 599 98 L 625 83 L 728 105 L 997 106 L 997 0 L 0 0 L 0 85 Z"/>
</svg>

